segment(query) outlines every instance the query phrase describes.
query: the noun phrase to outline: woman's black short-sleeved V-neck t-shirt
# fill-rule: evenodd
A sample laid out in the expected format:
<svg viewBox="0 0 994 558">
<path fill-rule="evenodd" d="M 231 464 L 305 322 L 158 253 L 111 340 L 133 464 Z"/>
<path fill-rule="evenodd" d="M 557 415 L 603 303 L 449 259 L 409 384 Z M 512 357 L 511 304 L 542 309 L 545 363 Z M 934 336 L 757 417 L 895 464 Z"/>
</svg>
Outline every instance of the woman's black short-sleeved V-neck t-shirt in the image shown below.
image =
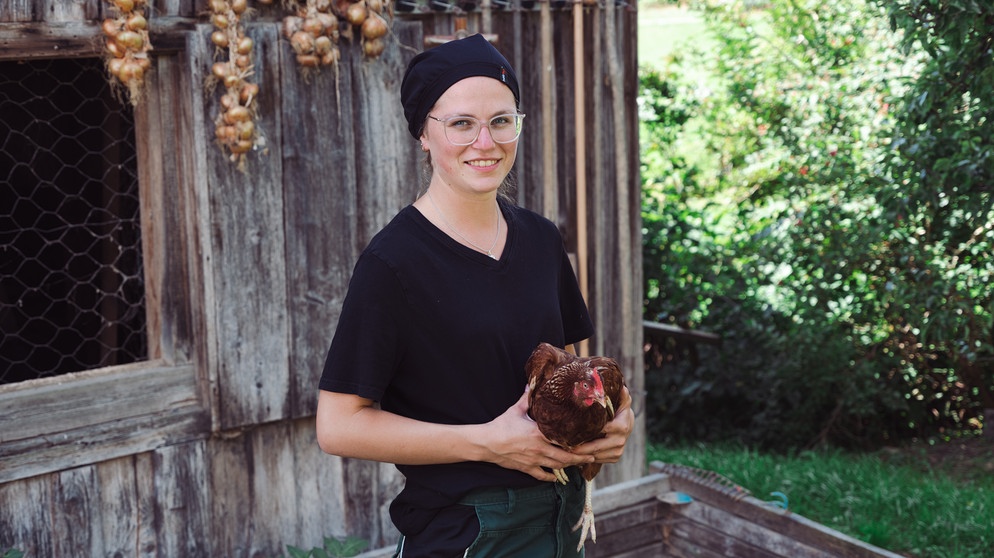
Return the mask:
<svg viewBox="0 0 994 558">
<path fill-rule="evenodd" d="M 524 364 L 542 341 L 563 347 L 593 325 L 556 226 L 501 203 L 500 260 L 456 242 L 408 206 L 356 263 L 320 388 L 378 401 L 441 424 L 488 422 L 525 389 Z M 391 507 L 404 534 L 483 487 L 539 481 L 490 463 L 400 465 Z"/>
</svg>

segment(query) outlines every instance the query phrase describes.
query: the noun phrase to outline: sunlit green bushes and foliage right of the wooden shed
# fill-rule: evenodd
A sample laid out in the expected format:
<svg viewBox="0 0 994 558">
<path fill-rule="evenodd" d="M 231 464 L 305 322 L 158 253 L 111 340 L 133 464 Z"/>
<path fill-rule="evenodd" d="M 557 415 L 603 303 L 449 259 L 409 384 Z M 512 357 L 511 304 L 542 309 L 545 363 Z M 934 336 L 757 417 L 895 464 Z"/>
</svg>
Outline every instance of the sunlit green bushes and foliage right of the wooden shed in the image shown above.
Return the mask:
<svg viewBox="0 0 994 558">
<path fill-rule="evenodd" d="M 645 314 L 724 338 L 655 363 L 656 437 L 869 446 L 994 406 L 994 8 L 885 4 L 714 3 L 714 48 L 643 71 Z"/>
</svg>

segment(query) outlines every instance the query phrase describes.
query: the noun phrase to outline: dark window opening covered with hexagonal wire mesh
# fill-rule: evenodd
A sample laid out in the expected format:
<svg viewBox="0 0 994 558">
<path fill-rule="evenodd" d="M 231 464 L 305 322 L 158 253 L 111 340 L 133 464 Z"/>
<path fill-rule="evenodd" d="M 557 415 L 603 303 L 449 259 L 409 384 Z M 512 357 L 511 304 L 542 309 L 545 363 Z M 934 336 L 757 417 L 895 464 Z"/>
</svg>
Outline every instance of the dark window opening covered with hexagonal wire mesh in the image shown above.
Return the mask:
<svg viewBox="0 0 994 558">
<path fill-rule="evenodd" d="M 0 384 L 147 358 L 134 117 L 105 76 L 0 61 Z"/>
</svg>

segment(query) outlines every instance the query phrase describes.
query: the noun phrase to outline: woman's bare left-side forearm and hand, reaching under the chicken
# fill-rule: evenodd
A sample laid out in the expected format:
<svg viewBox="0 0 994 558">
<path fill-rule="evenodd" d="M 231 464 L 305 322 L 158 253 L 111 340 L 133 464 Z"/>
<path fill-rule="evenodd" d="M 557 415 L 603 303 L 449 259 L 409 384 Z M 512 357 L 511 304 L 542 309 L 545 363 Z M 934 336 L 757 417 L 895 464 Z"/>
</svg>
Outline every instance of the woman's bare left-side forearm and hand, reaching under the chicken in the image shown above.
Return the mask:
<svg viewBox="0 0 994 558">
<path fill-rule="evenodd" d="M 447 425 L 414 420 L 379 409 L 370 399 L 322 390 L 317 437 L 333 455 L 399 465 L 486 461 L 555 481 L 549 469 L 590 463 L 545 440 L 528 417 L 527 395 L 484 424 Z"/>
</svg>

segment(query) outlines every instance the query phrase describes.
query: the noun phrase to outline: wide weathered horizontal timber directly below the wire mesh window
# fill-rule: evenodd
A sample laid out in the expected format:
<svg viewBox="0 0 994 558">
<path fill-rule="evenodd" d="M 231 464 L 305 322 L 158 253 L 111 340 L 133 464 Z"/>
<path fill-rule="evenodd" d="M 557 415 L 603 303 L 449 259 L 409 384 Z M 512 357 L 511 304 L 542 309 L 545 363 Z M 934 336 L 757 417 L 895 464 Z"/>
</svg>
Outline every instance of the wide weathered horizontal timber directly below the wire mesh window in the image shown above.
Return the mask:
<svg viewBox="0 0 994 558">
<path fill-rule="evenodd" d="M 207 426 L 192 366 L 140 363 L 0 386 L 0 483 L 202 437 Z"/>
</svg>

